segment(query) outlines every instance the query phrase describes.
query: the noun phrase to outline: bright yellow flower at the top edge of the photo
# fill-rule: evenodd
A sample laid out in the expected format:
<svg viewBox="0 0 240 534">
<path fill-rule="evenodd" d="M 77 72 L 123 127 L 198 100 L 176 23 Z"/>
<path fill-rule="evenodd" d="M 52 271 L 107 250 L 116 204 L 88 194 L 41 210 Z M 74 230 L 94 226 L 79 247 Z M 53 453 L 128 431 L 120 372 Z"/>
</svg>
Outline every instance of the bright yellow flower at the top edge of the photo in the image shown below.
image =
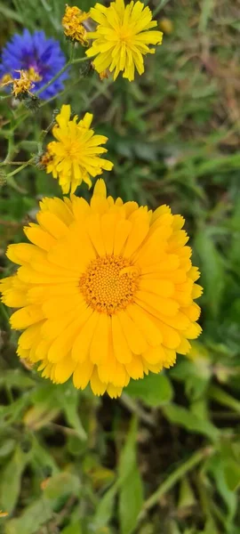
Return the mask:
<svg viewBox="0 0 240 534">
<path fill-rule="evenodd" d="M 134 79 L 135 67 L 142 74 L 142 56 L 155 53 L 155 48 L 149 48 L 148 44 L 161 44 L 163 38 L 161 31 L 148 31 L 157 24 L 152 20 L 150 9 L 141 2 L 125 6 L 124 0 L 116 0 L 109 7 L 96 4 L 90 15 L 98 23 L 96 31 L 87 34 L 93 44 L 86 55 L 97 56 L 94 68 L 99 73 L 105 69 L 115 71 L 114 79 L 123 70 L 123 77 L 130 82 Z"/>
</svg>

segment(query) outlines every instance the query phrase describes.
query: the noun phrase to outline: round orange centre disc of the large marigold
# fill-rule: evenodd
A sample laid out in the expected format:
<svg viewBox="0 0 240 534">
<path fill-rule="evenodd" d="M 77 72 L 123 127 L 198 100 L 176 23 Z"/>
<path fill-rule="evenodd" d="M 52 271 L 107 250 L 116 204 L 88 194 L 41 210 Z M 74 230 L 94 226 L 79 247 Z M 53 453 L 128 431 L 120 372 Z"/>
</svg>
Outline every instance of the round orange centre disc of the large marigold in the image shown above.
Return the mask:
<svg viewBox="0 0 240 534">
<path fill-rule="evenodd" d="M 139 270 L 120 255 L 93 260 L 81 276 L 79 287 L 93 310 L 112 315 L 133 302 Z"/>
</svg>

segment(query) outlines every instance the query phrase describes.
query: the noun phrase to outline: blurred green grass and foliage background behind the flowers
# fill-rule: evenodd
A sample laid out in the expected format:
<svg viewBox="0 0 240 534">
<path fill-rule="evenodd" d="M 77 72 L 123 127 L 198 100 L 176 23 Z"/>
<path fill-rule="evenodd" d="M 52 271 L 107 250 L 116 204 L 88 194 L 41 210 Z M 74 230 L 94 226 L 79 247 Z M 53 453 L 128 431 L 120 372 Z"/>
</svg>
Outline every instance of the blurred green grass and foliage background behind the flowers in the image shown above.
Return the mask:
<svg viewBox="0 0 240 534">
<path fill-rule="evenodd" d="M 64 4 L 0 1 L 1 46 L 21 28 L 44 28 L 68 55 Z M 89 0 L 76 5 L 90 7 Z M 17 125 L 13 157 L 31 157 L 62 103 L 78 115 L 92 111 L 115 163 L 105 175 L 108 191 L 154 208 L 168 203 L 186 217 L 202 271 L 204 333 L 191 358 L 132 382 L 112 401 L 52 385 L 25 368 L 2 305 L 4 534 L 240 532 L 240 4 L 153 0 L 149 6 L 165 33 L 145 74 L 133 83 L 100 82 L 75 66 L 64 93 Z M 0 101 L 2 160 L 10 118 L 9 101 Z M 60 195 L 57 181 L 33 166 L 14 178 L 0 190 L 1 277 L 12 272 L 5 248 L 23 239 L 39 198 Z M 90 198 L 84 185 L 78 191 Z"/>
</svg>

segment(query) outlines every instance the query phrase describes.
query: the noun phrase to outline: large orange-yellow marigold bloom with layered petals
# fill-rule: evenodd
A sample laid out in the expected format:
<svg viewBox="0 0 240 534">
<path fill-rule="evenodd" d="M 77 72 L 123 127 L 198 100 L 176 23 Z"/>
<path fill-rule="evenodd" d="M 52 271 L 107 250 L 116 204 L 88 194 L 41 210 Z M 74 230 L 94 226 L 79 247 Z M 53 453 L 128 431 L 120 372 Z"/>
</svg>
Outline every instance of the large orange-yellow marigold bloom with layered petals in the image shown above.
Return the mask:
<svg viewBox="0 0 240 534">
<path fill-rule="evenodd" d="M 20 264 L 2 280 L 3 302 L 20 308 L 11 326 L 23 329 L 18 353 L 41 362 L 43 376 L 77 388 L 121 394 L 130 378 L 169 368 L 201 328 L 193 299 L 202 288 L 192 267 L 180 215 L 152 213 L 136 202 L 106 197 L 99 180 L 84 198 L 44 198 L 32 242 L 11 245 Z"/>
</svg>

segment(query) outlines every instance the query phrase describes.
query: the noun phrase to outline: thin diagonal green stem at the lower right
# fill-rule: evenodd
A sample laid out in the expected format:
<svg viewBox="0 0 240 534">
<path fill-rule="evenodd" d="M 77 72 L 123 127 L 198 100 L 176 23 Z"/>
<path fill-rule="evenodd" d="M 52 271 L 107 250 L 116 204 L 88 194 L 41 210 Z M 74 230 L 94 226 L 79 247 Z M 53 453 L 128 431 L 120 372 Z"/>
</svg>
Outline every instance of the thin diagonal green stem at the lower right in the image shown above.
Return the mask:
<svg viewBox="0 0 240 534">
<path fill-rule="evenodd" d="M 206 449 L 197 450 L 192 457 L 188 458 L 187 462 L 184 462 L 184 464 L 181 464 L 180 467 L 173 471 L 173 473 L 170 474 L 170 476 L 159 486 L 159 488 L 145 501 L 138 517 L 138 522 L 145 517 L 145 514 L 148 512 L 148 510 L 155 506 L 167 491 L 172 489 L 176 482 L 180 481 L 180 479 L 186 473 L 188 473 L 188 471 L 200 464 L 200 462 L 210 454 L 212 454 L 212 449 L 209 447 Z"/>
</svg>

